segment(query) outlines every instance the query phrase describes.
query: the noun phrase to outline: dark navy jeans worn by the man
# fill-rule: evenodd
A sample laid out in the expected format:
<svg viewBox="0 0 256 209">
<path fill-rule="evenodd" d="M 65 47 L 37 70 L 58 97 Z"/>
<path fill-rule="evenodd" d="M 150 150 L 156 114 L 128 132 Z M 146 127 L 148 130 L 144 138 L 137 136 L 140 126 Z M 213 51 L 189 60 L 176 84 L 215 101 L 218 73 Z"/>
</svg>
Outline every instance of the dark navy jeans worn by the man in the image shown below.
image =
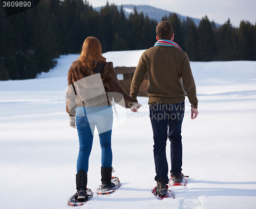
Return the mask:
<svg viewBox="0 0 256 209">
<path fill-rule="evenodd" d="M 151 105 L 150 118 L 154 135 L 154 160 L 156 181 L 168 184 L 168 164 L 166 159 L 166 141 L 170 140 L 170 159 L 172 175 L 179 175 L 182 166 L 181 125 L 184 117 L 185 103 L 173 105 Z"/>
</svg>

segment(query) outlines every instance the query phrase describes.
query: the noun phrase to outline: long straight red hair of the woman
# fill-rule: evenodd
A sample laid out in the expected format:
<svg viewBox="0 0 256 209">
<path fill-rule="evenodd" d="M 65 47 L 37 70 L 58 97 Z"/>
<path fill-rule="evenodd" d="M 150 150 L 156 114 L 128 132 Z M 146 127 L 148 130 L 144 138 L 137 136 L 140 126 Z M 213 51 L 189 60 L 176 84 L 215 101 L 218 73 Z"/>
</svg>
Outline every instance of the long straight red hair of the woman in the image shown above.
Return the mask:
<svg viewBox="0 0 256 209">
<path fill-rule="evenodd" d="M 95 68 L 97 62 L 106 61 L 106 58 L 102 56 L 101 45 L 97 38 L 89 36 L 84 40 L 78 60 L 89 69 Z"/>
</svg>

